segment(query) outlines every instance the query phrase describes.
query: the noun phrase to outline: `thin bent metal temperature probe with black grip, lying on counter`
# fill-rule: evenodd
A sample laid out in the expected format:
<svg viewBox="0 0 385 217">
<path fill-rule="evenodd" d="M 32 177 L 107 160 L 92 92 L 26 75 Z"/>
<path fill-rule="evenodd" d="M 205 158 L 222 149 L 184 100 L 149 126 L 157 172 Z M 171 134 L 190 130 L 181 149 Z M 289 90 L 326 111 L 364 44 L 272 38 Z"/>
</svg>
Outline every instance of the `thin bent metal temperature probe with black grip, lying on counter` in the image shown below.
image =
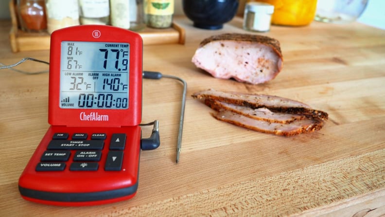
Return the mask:
<svg viewBox="0 0 385 217">
<path fill-rule="evenodd" d="M 160 79 L 162 77 L 175 79 L 182 82 L 183 84 L 182 105 L 181 105 L 180 116 L 179 116 L 178 141 L 176 146 L 176 163 L 179 163 L 179 155 L 182 147 L 182 132 L 183 132 L 184 110 L 186 106 L 187 83 L 182 78 L 176 77 L 174 75 L 162 74 L 160 72 L 143 71 L 143 78 Z"/>
</svg>

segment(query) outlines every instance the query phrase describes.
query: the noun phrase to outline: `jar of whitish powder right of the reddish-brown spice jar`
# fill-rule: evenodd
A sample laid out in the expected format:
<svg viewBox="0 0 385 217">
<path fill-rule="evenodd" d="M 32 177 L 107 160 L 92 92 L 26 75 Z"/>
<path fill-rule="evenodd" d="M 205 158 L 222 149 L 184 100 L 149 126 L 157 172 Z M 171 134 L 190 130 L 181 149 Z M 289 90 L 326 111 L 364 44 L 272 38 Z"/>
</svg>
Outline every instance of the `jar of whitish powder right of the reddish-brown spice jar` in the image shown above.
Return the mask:
<svg viewBox="0 0 385 217">
<path fill-rule="evenodd" d="M 45 0 L 47 10 L 47 31 L 79 25 L 78 0 Z"/>
</svg>

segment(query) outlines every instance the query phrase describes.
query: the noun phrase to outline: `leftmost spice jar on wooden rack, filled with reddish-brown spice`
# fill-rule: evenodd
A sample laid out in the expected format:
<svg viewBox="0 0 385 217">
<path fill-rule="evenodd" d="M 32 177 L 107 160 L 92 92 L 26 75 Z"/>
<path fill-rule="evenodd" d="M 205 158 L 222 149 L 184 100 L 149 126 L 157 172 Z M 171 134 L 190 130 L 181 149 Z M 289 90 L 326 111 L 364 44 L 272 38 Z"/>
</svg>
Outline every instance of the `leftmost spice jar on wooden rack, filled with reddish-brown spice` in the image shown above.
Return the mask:
<svg viewBox="0 0 385 217">
<path fill-rule="evenodd" d="M 42 32 L 47 29 L 44 0 L 18 0 L 17 9 L 21 30 Z"/>
</svg>

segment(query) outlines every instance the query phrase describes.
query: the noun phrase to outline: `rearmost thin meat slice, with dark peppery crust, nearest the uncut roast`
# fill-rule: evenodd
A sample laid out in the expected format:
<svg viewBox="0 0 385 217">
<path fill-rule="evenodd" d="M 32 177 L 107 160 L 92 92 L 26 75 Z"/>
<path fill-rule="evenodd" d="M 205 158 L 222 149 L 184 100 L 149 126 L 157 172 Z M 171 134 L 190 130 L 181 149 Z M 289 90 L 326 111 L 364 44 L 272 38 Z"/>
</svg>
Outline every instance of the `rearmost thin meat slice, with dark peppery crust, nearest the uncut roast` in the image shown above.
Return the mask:
<svg viewBox="0 0 385 217">
<path fill-rule="evenodd" d="M 196 92 L 192 97 L 202 100 L 217 100 L 251 109 L 267 108 L 273 112 L 307 115 L 322 120 L 328 119 L 328 113 L 324 111 L 315 110 L 304 103 L 279 96 L 222 92 L 210 89 Z"/>
</svg>

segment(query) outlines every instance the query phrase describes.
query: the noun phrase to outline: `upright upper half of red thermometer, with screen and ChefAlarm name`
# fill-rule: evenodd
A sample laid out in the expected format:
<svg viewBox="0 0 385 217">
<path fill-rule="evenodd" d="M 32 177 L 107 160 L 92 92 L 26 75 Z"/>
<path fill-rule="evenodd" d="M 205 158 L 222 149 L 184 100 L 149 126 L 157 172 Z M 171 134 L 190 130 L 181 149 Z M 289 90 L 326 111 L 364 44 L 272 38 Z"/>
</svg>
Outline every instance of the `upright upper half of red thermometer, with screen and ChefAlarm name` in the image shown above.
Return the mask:
<svg viewBox="0 0 385 217">
<path fill-rule="evenodd" d="M 143 41 L 112 26 L 81 25 L 51 35 L 48 122 L 67 127 L 137 126 Z"/>
</svg>

